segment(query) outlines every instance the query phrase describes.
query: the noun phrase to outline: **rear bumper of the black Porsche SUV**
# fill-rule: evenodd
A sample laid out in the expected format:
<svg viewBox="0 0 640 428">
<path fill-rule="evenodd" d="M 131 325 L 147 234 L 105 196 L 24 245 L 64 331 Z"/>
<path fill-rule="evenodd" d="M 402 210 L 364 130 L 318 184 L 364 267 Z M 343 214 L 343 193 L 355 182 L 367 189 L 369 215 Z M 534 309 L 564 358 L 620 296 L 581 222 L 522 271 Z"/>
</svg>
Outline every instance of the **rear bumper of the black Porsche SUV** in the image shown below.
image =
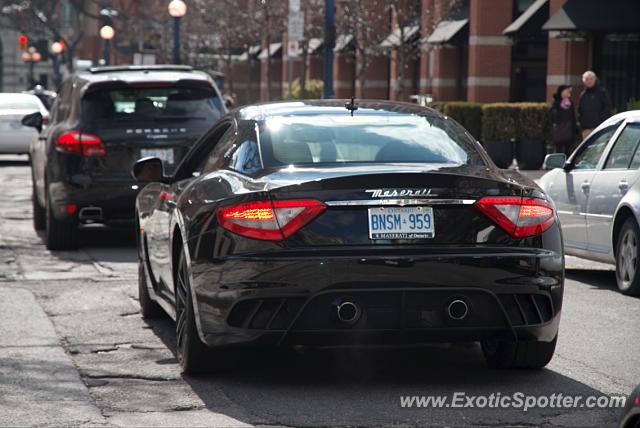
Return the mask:
<svg viewBox="0 0 640 428">
<path fill-rule="evenodd" d="M 136 183 L 131 181 L 98 182 L 87 180 L 86 184 L 53 182 L 49 185 L 54 216 L 58 220 L 79 219 L 85 208 L 98 208 L 101 216 L 86 220 L 109 226 L 127 226 L 135 221 L 135 200 L 138 195 Z M 75 213 L 67 211 L 67 205 L 77 205 Z"/>
</svg>

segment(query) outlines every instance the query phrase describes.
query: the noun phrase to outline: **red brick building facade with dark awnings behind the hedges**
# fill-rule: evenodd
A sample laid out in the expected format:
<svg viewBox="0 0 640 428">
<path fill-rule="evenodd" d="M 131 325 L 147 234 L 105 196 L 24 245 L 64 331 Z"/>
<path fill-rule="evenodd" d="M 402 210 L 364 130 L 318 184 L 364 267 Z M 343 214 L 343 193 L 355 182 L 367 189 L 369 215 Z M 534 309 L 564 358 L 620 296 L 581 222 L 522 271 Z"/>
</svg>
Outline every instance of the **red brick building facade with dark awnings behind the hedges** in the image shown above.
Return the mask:
<svg viewBox="0 0 640 428">
<path fill-rule="evenodd" d="M 338 19 L 345 3 L 337 2 Z M 377 16 L 369 23 L 379 38 L 370 46 L 364 79 L 354 48 L 358 35 L 338 28 L 333 74 L 339 98 L 408 101 L 422 94 L 439 101 L 543 102 L 560 84 L 579 93 L 582 73 L 594 70 L 617 110 L 640 99 L 637 0 L 406 0 Z M 307 80 L 322 76 L 321 44 L 306 58 Z M 261 90 L 238 94 L 241 102 L 286 96 L 286 46 L 284 35 L 272 41 L 270 60 L 263 44 L 227 70 L 237 87 L 250 88 L 243 76 L 252 74 L 244 69 L 260 68 Z M 301 61 L 293 59 L 294 78 Z"/>
</svg>

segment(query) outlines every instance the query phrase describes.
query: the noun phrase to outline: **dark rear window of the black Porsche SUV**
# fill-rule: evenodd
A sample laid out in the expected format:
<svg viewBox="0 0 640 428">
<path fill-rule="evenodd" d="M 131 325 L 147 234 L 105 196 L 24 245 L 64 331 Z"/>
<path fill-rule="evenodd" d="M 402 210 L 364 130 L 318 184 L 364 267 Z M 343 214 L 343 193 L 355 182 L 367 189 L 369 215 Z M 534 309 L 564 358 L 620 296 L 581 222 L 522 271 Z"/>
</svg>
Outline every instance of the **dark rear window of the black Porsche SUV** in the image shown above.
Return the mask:
<svg viewBox="0 0 640 428">
<path fill-rule="evenodd" d="M 91 92 L 82 100 L 83 120 L 98 126 L 188 120 L 210 125 L 222 114 L 220 98 L 206 88 L 109 89 Z"/>
</svg>

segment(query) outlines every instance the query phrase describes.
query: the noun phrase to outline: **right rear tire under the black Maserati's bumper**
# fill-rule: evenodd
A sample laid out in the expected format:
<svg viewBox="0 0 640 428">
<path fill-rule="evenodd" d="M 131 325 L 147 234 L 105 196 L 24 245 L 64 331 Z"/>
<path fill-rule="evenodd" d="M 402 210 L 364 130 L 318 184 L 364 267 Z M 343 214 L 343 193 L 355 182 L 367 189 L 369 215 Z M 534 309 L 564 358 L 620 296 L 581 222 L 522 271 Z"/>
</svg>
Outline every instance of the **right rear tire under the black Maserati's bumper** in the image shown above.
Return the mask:
<svg viewBox="0 0 640 428">
<path fill-rule="evenodd" d="M 551 361 L 558 336 L 551 342 L 540 341 L 486 341 L 482 352 L 487 365 L 496 369 L 540 369 Z"/>
</svg>

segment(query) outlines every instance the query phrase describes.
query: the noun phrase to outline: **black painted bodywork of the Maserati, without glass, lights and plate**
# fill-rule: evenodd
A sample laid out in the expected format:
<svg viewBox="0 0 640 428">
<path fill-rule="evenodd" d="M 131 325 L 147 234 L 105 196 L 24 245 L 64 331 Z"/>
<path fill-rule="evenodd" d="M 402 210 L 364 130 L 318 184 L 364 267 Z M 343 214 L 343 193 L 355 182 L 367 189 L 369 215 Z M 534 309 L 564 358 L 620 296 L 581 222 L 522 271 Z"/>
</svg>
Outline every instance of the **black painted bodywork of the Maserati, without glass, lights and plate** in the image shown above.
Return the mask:
<svg viewBox="0 0 640 428">
<path fill-rule="evenodd" d="M 323 105 L 314 102 L 313 107 L 318 104 Z M 370 105 L 418 114 L 425 111 L 400 103 Z M 301 105 L 300 109 L 306 107 Z M 236 110 L 226 118 L 227 125 L 223 120 L 219 127 L 237 126 L 245 118 L 246 112 Z M 438 232 L 436 239 L 427 242 L 369 241 L 363 207 L 330 207 L 280 242 L 245 238 L 217 224 L 215 211 L 227 204 L 297 197 L 364 200 L 370 198 L 364 189 L 378 187 L 441 189 L 438 197 L 447 199 L 522 195 L 548 200 L 529 179 L 498 170 L 484 152 L 486 166 L 336 165 L 266 169 L 251 175 L 223 167 L 189 177 L 185 171 L 214 132 L 210 131 L 187 155 L 174 178 L 147 185 L 136 205 L 141 226 L 139 251 L 150 295 L 175 317 L 174 267 L 180 250 L 184 250 L 200 337 L 208 345 L 422 343 L 485 338 L 551 341 L 556 336 L 564 283 L 557 218 L 543 234 L 515 239 L 472 205 L 434 206 Z M 371 307 L 381 308 L 383 315 L 394 305 L 407 313 L 420 312 L 418 303 L 411 309 L 411 302 L 423 302 L 428 310 L 427 320 L 421 322 L 426 325 L 409 328 L 405 315 L 399 315 L 402 320 L 394 319 L 398 311 L 392 309 L 394 314 L 387 324 L 371 324 L 371 320 L 363 320 L 360 326 L 331 324 L 332 300 L 373 295 L 379 295 L 379 300 Z M 521 304 L 515 295 L 548 299 L 549 316 L 540 317 L 538 323 L 525 319 L 523 325 L 514 325 L 510 311 Z M 476 313 L 483 312 L 480 306 L 485 306 L 484 312 L 491 306 L 489 312 L 497 315 L 481 320 L 486 325 L 441 325 L 440 321 L 429 325 L 429 317 L 437 317 L 434 313 L 443 311 L 441 306 L 456 296 L 476 299 L 476 308 L 470 301 Z M 233 310 L 256 299 L 262 299 L 261 305 L 279 305 L 278 311 L 297 301 L 291 308 L 290 323 L 275 329 L 231 325 Z M 515 306 L 507 307 L 509 299 L 515 299 Z M 305 313 L 317 313 L 318 305 L 326 309 L 326 313 L 316 314 L 325 318 L 324 328 L 298 328 L 306 322 Z M 255 310 L 259 312 L 260 308 Z"/>
</svg>

